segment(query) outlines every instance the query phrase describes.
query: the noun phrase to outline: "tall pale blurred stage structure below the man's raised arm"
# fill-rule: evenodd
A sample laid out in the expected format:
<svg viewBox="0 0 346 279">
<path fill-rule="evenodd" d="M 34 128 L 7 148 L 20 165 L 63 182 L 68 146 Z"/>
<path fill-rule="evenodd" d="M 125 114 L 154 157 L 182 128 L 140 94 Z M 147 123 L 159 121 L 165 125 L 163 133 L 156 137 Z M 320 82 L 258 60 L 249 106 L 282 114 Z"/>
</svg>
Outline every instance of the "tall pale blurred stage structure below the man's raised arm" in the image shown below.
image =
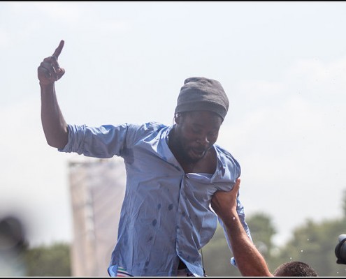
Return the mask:
<svg viewBox="0 0 346 279">
<path fill-rule="evenodd" d="M 125 193 L 122 158 L 85 158 L 69 163 L 73 212 L 71 276 L 108 277 Z"/>
</svg>

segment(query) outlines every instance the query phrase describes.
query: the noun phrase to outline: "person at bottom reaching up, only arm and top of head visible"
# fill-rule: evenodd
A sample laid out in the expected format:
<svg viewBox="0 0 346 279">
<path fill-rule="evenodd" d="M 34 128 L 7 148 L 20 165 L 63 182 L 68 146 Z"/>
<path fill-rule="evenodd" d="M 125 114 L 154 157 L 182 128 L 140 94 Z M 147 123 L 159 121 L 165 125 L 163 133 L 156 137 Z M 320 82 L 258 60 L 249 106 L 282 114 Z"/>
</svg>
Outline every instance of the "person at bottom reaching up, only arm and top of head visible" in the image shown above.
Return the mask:
<svg viewBox="0 0 346 279">
<path fill-rule="evenodd" d="M 303 262 L 286 262 L 272 274 L 264 257 L 250 241 L 237 213 L 237 195 L 240 179 L 231 191 L 217 191 L 211 201 L 212 209 L 224 221 L 224 227 L 232 246 L 233 256 L 243 276 L 297 277 L 318 276 L 311 266 Z"/>
</svg>

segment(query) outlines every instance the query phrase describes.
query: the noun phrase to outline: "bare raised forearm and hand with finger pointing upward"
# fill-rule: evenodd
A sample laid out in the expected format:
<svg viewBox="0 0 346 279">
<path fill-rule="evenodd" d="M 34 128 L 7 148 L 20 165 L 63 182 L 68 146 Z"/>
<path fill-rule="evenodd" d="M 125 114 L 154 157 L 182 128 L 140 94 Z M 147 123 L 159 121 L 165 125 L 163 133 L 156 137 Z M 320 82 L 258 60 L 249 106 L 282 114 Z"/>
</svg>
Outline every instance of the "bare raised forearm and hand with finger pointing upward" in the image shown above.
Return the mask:
<svg viewBox="0 0 346 279">
<path fill-rule="evenodd" d="M 43 131 L 48 144 L 59 149 L 64 148 L 68 141 L 67 124 L 55 93 L 55 82 L 65 73 L 64 68 L 60 68 L 57 61 L 63 47 L 64 40 L 61 40 L 52 56 L 43 59 L 43 62 L 37 69 L 41 87 L 41 121 Z"/>
</svg>

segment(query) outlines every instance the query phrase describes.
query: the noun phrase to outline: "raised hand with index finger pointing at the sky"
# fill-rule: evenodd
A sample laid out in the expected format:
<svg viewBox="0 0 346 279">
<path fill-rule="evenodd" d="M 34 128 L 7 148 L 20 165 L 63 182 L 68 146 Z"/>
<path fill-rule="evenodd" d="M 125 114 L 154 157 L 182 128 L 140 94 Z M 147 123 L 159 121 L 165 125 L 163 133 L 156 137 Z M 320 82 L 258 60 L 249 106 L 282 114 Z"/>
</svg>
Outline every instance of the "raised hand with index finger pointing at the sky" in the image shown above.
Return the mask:
<svg viewBox="0 0 346 279">
<path fill-rule="evenodd" d="M 59 46 L 52 54 L 52 56 L 48 56 L 43 59 L 40 66 L 37 68 L 38 80 L 40 80 L 40 84 L 52 84 L 59 80 L 65 73 L 64 68 L 59 66 L 57 61 L 60 53 L 62 52 L 62 48 L 64 47 L 64 40 L 61 40 Z"/>
</svg>

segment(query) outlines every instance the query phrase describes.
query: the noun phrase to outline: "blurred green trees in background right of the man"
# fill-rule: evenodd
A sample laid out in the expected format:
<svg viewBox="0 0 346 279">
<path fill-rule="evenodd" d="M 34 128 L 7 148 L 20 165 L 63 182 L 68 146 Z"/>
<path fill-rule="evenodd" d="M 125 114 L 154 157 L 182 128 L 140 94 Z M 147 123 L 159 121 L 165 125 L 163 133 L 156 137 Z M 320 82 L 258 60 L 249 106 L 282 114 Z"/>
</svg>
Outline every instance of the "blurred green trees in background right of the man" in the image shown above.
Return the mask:
<svg viewBox="0 0 346 279">
<path fill-rule="evenodd" d="M 346 234 L 346 218 L 324 220 L 321 223 L 306 220 L 303 225 L 294 229 L 291 239 L 282 247 L 273 245 L 276 230 L 267 214 L 255 213 L 248 216 L 247 225 L 255 246 L 264 255 L 271 272 L 284 262 L 300 261 L 312 266 L 319 276 L 346 276 L 346 265 L 336 264 L 335 255 L 338 236 Z M 203 248 L 203 263 L 207 275 L 241 276 L 238 269 L 229 263 L 231 257 L 223 229 L 218 225 L 212 240 Z"/>
</svg>

